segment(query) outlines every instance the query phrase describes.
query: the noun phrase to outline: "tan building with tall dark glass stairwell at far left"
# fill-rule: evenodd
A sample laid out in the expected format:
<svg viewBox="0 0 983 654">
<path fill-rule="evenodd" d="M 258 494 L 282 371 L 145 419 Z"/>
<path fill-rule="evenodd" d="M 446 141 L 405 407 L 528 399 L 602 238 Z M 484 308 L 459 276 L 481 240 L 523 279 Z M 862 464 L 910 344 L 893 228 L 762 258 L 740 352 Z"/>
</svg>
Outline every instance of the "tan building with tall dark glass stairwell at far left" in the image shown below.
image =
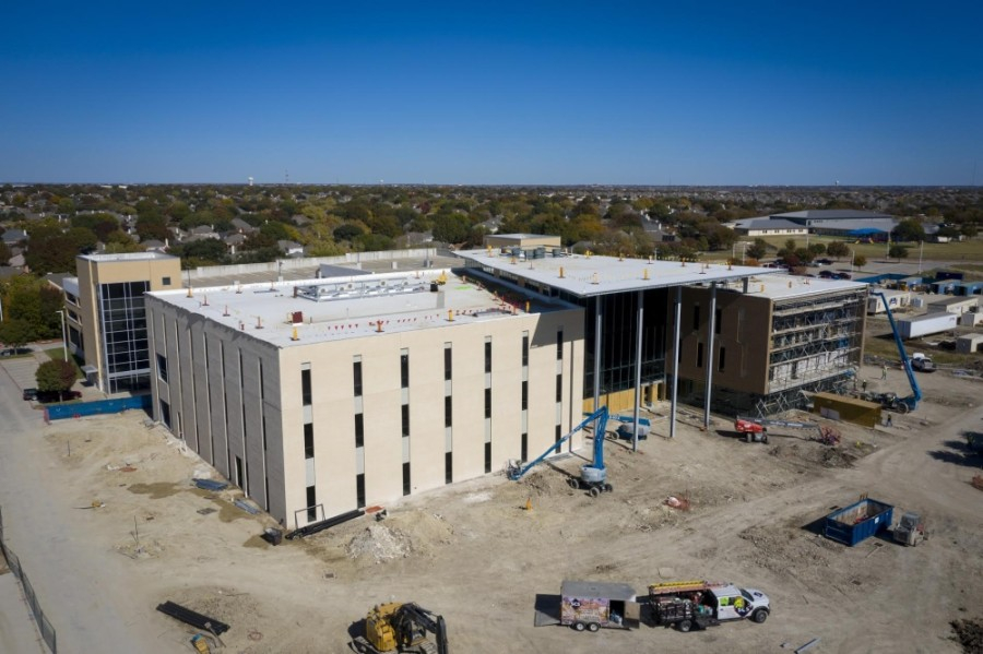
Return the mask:
<svg viewBox="0 0 983 654">
<path fill-rule="evenodd" d="M 181 260 L 161 252 L 83 254 L 78 277 L 67 277 L 67 340 L 85 359 L 88 381 L 105 393 L 150 388 L 150 350 L 143 294 L 179 288 Z"/>
</svg>

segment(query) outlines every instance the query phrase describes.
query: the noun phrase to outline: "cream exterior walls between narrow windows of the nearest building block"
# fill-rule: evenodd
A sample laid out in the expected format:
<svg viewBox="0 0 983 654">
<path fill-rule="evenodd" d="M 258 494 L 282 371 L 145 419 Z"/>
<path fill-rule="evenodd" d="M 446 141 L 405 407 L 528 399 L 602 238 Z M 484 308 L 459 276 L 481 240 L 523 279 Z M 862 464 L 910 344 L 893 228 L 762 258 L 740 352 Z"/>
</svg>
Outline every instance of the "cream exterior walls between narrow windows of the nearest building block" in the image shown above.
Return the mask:
<svg viewBox="0 0 983 654">
<path fill-rule="evenodd" d="M 411 490 L 416 494 L 445 485 L 445 343 L 451 343 L 453 353 L 453 379 L 449 383 L 453 397 L 454 481 L 485 474 L 486 336 L 492 337 L 493 344 L 493 473 L 501 471 L 509 459 L 520 457 L 523 331 L 529 331 L 531 337 L 529 457 L 537 456 L 555 440 L 558 367 L 564 377 L 561 433 L 582 419 L 580 309 L 458 321 L 436 329 L 383 332 L 334 342 L 301 341 L 283 348 L 253 338 L 249 328 L 236 332 L 155 298 L 147 299 L 147 311 L 152 349 L 166 353 L 168 367 L 168 382 L 164 382 L 152 353 L 155 417 L 159 419 L 159 402 L 168 402 L 175 435 L 233 481 L 235 457 L 242 459 L 250 476 L 248 495 L 288 527 L 308 522 L 304 512 L 296 514 L 307 507 L 306 414 L 313 424 L 317 502 L 323 504 L 327 516 L 356 508 L 354 416 L 359 405 L 365 416 L 366 503 L 386 504 L 402 497 L 404 392 L 410 404 Z M 562 330 L 566 341 L 561 362 L 556 358 L 558 330 Z M 400 355 L 404 348 L 410 354 L 407 391 L 400 388 Z M 352 364 L 356 355 L 362 357 L 363 367 L 360 400 L 355 399 L 353 391 Z M 311 370 L 309 407 L 301 402 L 305 364 Z M 578 437 L 572 448 L 580 447 L 582 439 Z"/>
</svg>

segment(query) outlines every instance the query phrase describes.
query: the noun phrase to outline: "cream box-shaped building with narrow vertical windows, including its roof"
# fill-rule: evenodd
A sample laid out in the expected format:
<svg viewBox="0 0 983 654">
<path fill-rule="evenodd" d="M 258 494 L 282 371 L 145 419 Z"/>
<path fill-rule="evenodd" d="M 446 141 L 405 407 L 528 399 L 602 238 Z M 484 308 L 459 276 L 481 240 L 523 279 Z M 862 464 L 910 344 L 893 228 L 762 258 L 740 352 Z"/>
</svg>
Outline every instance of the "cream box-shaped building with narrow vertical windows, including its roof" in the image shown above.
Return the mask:
<svg viewBox="0 0 983 654">
<path fill-rule="evenodd" d="M 582 419 L 583 309 L 483 284 L 150 293 L 154 417 L 291 528 L 534 457 Z"/>
</svg>

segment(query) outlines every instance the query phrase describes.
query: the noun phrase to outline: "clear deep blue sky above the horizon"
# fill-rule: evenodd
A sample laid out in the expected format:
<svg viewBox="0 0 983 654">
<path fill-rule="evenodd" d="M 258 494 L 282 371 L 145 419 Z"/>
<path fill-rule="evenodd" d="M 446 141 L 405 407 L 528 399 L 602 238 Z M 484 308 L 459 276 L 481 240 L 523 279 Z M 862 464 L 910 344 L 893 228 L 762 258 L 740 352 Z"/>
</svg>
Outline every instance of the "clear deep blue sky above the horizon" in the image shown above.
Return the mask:
<svg viewBox="0 0 983 654">
<path fill-rule="evenodd" d="M 983 183 L 979 1 L 22 1 L 2 21 L 0 182 Z"/>
</svg>

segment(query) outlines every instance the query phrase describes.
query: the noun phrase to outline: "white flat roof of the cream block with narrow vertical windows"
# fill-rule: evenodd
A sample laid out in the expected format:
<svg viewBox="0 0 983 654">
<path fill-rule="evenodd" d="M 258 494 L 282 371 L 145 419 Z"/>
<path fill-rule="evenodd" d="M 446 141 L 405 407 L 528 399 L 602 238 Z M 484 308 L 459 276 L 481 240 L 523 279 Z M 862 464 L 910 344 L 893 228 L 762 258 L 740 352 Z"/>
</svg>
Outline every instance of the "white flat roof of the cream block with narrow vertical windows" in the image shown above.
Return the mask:
<svg viewBox="0 0 983 654">
<path fill-rule="evenodd" d="M 433 293 L 441 273 L 447 283 Z M 383 332 L 405 332 L 501 320 L 524 313 L 528 299 L 514 292 L 495 295 L 475 278 L 439 269 L 193 287 L 190 297 L 187 288 L 146 295 L 277 347 L 371 336 L 379 321 Z M 532 312 L 573 308 L 558 299 L 530 299 Z"/>
</svg>

